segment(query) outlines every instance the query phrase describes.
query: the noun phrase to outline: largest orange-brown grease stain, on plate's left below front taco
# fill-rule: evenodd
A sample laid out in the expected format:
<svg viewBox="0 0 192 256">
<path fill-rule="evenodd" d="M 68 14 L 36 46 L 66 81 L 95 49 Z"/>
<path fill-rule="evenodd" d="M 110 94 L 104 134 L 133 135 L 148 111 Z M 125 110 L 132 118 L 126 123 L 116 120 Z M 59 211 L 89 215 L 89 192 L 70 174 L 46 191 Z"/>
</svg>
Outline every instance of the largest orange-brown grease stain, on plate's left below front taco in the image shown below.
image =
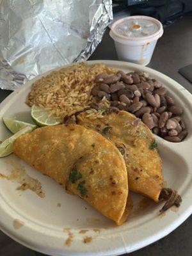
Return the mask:
<svg viewBox="0 0 192 256">
<path fill-rule="evenodd" d="M 12 172 L 10 175 L 4 175 L 3 173 L 0 173 L 0 178 L 11 180 L 12 182 L 17 181 L 20 184 L 17 190 L 24 191 L 26 189 L 30 189 L 41 198 L 45 197 L 41 183 L 37 179 L 34 179 L 28 175 L 24 169 L 24 166 L 20 164 L 20 161 L 17 159 L 17 157 L 9 157 L 9 160 L 6 162 L 6 164 L 8 169 L 12 170 Z"/>
</svg>

